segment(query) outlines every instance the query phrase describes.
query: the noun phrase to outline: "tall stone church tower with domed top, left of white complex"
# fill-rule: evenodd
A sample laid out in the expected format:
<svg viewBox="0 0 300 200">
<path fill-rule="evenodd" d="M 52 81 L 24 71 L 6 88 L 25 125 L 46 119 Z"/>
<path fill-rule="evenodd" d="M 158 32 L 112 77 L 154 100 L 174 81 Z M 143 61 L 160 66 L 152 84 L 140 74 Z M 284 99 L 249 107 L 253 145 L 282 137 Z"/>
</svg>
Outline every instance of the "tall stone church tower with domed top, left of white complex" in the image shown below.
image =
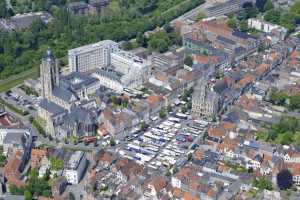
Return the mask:
<svg viewBox="0 0 300 200">
<path fill-rule="evenodd" d="M 41 96 L 50 100 L 54 87 L 59 85 L 58 62 L 50 49 L 47 50 L 42 59 L 40 78 L 42 86 Z"/>
</svg>

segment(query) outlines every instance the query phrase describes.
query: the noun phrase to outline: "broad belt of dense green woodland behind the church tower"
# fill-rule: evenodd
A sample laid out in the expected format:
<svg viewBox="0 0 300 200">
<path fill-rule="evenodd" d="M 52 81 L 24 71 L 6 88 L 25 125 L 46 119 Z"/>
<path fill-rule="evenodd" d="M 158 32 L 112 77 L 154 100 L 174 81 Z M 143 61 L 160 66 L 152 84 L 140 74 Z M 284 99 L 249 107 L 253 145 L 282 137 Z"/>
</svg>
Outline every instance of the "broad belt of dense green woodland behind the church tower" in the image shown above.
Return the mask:
<svg viewBox="0 0 300 200">
<path fill-rule="evenodd" d="M 143 15 L 139 9 L 142 2 L 148 4 L 148 1 L 115 0 L 102 13 L 89 16 L 70 16 L 65 6 L 51 6 L 54 20 L 48 26 L 39 20 L 23 31 L 0 31 L 0 78 L 38 66 L 49 46 L 64 65 L 70 48 L 104 39 L 129 40 L 203 3 L 202 0 L 158 0 L 157 8 Z M 161 38 L 165 38 L 163 34 Z M 153 48 L 157 48 L 156 43 L 151 42 Z"/>
</svg>

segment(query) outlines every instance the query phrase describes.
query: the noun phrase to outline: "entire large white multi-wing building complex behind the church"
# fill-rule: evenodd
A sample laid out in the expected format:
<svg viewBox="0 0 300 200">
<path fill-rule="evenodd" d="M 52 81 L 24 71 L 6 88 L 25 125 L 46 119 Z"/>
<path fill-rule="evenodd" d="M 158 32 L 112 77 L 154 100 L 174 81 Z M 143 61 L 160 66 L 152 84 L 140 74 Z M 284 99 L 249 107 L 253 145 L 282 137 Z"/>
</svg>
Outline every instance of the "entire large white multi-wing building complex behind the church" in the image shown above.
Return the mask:
<svg viewBox="0 0 300 200">
<path fill-rule="evenodd" d="M 100 41 L 69 51 L 72 72 L 91 72 L 101 86 L 116 92 L 136 88 L 148 77 L 151 62 L 121 50 L 116 42 Z"/>
</svg>

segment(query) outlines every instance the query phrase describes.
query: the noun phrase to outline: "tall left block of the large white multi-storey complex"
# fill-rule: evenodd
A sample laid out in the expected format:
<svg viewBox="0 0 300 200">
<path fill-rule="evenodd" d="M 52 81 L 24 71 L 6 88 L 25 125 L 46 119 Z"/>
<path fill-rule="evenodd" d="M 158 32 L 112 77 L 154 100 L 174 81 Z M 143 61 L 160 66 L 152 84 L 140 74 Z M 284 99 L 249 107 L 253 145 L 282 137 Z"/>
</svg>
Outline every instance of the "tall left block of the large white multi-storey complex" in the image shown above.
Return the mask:
<svg viewBox="0 0 300 200">
<path fill-rule="evenodd" d="M 71 72 L 89 72 L 110 65 L 110 55 L 117 51 L 119 45 L 111 40 L 103 40 L 85 45 L 68 52 Z"/>
</svg>

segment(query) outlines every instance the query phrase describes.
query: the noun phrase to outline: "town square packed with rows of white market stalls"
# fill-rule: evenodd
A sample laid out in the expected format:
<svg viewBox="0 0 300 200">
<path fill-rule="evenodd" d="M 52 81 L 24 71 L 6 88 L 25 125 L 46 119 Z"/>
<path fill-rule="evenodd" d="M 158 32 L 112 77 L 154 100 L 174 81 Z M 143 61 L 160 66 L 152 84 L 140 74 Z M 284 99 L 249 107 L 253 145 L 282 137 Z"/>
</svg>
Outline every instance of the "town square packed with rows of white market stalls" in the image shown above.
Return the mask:
<svg viewBox="0 0 300 200">
<path fill-rule="evenodd" d="M 132 133 L 119 153 L 152 169 L 168 168 L 194 151 L 208 124 L 176 113 L 144 132 Z"/>
</svg>

